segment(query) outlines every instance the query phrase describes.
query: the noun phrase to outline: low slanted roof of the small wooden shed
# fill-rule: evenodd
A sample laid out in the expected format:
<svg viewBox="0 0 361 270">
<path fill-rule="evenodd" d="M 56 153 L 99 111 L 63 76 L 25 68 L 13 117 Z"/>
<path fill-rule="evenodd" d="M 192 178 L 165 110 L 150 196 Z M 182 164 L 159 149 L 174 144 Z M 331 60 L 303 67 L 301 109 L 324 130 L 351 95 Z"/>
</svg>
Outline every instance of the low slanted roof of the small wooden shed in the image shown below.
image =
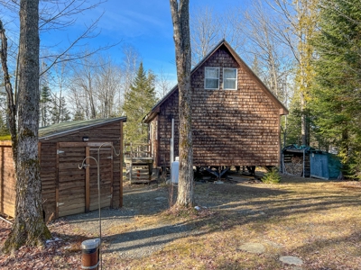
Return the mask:
<svg viewBox="0 0 361 270">
<path fill-rule="evenodd" d="M 47 140 L 56 137 L 62 137 L 80 130 L 88 130 L 94 127 L 100 127 L 116 121 L 126 121 L 126 116 L 85 121 L 63 121 L 51 126 L 40 128 L 38 134 L 40 140 Z"/>
</svg>

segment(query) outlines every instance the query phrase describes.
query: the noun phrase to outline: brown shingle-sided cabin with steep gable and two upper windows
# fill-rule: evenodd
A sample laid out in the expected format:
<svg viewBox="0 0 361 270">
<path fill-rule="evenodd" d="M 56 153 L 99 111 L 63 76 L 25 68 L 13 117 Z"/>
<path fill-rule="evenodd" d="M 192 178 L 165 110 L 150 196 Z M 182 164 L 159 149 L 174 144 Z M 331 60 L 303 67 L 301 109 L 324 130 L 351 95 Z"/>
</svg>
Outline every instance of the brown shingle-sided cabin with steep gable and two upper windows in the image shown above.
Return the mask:
<svg viewBox="0 0 361 270">
<path fill-rule="evenodd" d="M 190 83 L 194 166 L 279 166 L 288 110 L 226 40 L 192 68 Z M 154 167 L 171 164 L 172 130 L 179 155 L 178 105 L 176 85 L 143 118 Z"/>
</svg>

